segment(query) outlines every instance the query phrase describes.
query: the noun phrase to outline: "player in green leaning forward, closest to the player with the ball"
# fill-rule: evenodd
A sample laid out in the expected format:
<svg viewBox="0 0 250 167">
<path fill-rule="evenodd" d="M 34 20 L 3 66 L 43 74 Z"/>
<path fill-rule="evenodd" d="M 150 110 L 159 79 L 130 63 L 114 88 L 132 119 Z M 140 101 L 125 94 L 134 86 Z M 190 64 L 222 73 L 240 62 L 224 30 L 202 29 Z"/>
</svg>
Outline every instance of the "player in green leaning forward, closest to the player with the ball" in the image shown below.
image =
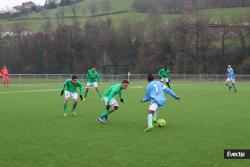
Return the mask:
<svg viewBox="0 0 250 167">
<path fill-rule="evenodd" d="M 128 85 L 129 82 L 127 80 L 123 80 L 121 84 L 112 85 L 104 92 L 103 99 L 105 100 L 106 103 L 106 109 L 98 117 L 98 120 L 101 123 L 104 123 L 103 118 L 105 118 L 108 121 L 109 114 L 111 114 L 115 110 L 118 110 L 118 102 L 114 98 L 116 94 L 119 94 L 120 101 L 124 103 L 121 92 L 123 89 L 127 89 Z"/>
</svg>

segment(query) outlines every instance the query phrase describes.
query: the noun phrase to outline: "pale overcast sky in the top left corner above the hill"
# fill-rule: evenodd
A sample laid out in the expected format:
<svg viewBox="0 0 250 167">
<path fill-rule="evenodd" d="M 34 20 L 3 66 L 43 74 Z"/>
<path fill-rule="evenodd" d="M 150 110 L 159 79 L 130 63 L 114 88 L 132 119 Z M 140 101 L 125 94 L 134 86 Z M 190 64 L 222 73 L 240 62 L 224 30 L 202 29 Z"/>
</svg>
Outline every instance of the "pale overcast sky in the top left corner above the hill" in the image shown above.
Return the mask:
<svg viewBox="0 0 250 167">
<path fill-rule="evenodd" d="M 22 2 L 32 1 L 36 5 L 44 5 L 46 0 L 0 0 L 0 10 L 6 10 L 16 5 L 22 5 Z"/>
</svg>

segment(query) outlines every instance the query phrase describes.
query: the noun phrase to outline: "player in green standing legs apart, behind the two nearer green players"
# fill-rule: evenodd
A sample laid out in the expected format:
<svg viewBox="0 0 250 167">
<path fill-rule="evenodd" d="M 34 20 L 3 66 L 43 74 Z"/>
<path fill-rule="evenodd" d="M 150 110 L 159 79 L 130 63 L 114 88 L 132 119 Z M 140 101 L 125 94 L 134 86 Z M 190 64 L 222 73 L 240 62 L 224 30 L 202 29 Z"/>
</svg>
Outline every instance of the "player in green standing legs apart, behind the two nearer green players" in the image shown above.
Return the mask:
<svg viewBox="0 0 250 167">
<path fill-rule="evenodd" d="M 91 67 L 91 70 L 88 70 L 87 85 L 86 85 L 86 91 L 84 94 L 83 101 L 86 100 L 89 88 L 92 88 L 92 87 L 94 87 L 96 89 L 99 97 L 102 100 L 102 93 L 98 89 L 98 84 L 97 84 L 96 80 L 98 80 L 98 82 L 102 82 L 102 79 L 101 79 L 99 73 L 96 71 L 96 67 L 93 66 L 93 67 Z"/>
</svg>

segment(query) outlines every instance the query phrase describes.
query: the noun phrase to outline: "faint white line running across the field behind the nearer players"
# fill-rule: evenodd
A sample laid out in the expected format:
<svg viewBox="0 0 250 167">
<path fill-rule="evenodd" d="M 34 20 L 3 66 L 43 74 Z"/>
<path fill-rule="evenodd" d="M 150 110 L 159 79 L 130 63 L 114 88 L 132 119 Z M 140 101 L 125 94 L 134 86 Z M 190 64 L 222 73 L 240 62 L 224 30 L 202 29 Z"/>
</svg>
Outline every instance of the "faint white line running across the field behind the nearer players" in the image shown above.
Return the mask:
<svg viewBox="0 0 250 167">
<path fill-rule="evenodd" d="M 193 84 L 175 84 L 175 86 L 188 86 Z M 142 89 L 143 86 L 129 86 L 129 89 Z M 85 88 L 84 88 L 85 89 Z M 105 87 L 101 88 L 102 90 L 105 89 Z M 36 93 L 36 92 L 56 92 L 60 91 L 60 89 L 34 89 L 34 90 L 16 90 L 16 91 L 4 91 L 0 92 L 0 94 L 10 94 L 10 93 Z"/>
</svg>

